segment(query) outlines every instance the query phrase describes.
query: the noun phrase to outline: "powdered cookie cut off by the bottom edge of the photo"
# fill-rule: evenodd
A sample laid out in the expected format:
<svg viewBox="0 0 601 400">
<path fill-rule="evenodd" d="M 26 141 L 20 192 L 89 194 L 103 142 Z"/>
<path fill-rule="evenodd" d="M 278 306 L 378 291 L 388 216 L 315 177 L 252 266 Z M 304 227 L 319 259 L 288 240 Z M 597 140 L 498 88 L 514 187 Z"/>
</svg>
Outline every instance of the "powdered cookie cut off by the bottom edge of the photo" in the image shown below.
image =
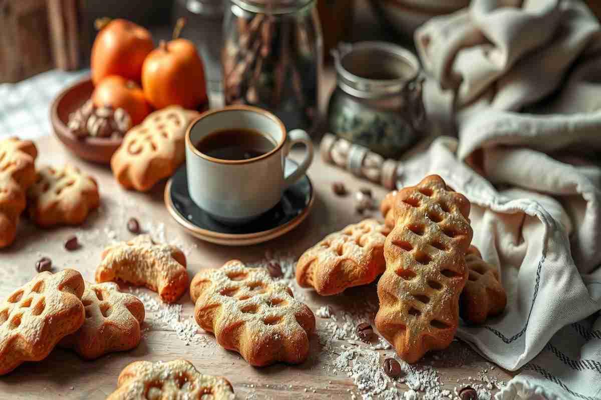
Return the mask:
<svg viewBox="0 0 601 400">
<path fill-rule="evenodd" d="M 135 361 L 117 380 L 106 400 L 234 400 L 234 389 L 222 377 L 203 375 L 186 360 Z"/>
</svg>

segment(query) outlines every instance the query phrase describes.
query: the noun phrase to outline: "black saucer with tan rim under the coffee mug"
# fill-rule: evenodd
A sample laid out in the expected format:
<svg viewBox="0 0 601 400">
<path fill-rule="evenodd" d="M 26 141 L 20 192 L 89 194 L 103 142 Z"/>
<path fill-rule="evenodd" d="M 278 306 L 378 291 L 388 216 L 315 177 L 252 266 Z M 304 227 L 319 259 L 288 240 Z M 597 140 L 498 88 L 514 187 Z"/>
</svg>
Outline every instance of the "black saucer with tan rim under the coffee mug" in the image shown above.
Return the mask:
<svg viewBox="0 0 601 400">
<path fill-rule="evenodd" d="M 298 164 L 285 160 L 285 171 L 293 171 Z M 266 242 L 282 236 L 307 218 L 315 197 L 307 175 L 284 191 L 275 207 L 245 225 L 230 226 L 211 218 L 198 207 L 188 192 L 188 173 L 184 164 L 169 179 L 165 187 L 165 205 L 171 216 L 188 233 L 198 239 L 226 246 L 246 246 Z"/>
</svg>

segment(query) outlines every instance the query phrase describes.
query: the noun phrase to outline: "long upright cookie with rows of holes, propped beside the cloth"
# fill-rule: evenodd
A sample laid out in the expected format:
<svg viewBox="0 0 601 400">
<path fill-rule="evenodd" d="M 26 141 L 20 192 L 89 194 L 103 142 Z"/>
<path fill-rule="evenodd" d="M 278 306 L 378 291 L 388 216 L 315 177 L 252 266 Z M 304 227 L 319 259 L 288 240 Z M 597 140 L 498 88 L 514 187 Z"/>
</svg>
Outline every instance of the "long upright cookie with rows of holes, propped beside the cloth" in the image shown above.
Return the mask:
<svg viewBox="0 0 601 400">
<path fill-rule="evenodd" d="M 386 271 L 377 285 L 376 327 L 398 356 L 416 362 L 448 347 L 459 323 L 459 294 L 468 278 L 470 204 L 438 175 L 394 196 L 386 237 Z"/>
</svg>

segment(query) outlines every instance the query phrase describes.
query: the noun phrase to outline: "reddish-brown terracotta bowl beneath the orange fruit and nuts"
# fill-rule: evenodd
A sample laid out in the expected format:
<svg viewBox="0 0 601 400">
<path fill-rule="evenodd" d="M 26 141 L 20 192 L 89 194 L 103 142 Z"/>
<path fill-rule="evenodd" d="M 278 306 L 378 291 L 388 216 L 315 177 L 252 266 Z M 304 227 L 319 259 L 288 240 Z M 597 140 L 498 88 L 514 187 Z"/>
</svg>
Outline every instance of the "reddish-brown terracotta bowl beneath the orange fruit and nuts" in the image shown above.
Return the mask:
<svg viewBox="0 0 601 400">
<path fill-rule="evenodd" d="M 90 78 L 80 80 L 69 86 L 52 102 L 50 122 L 52 122 L 54 134 L 67 149 L 84 160 L 109 164 L 112 154 L 121 145 L 122 139 L 101 139 L 97 137 L 78 139 L 67 128 L 70 113 L 81 107 L 91 97 L 93 91 L 94 85 Z"/>
</svg>

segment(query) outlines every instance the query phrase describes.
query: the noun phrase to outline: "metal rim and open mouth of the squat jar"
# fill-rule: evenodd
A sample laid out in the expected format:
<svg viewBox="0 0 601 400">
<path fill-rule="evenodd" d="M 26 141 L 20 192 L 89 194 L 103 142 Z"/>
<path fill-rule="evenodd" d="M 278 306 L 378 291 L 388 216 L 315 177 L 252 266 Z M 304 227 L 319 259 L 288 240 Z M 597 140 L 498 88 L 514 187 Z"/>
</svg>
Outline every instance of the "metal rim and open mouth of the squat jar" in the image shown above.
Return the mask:
<svg viewBox="0 0 601 400">
<path fill-rule="evenodd" d="M 364 41 L 341 44 L 332 55 L 338 86 L 355 97 L 397 94 L 419 74 L 417 57 L 391 43 Z"/>
</svg>

